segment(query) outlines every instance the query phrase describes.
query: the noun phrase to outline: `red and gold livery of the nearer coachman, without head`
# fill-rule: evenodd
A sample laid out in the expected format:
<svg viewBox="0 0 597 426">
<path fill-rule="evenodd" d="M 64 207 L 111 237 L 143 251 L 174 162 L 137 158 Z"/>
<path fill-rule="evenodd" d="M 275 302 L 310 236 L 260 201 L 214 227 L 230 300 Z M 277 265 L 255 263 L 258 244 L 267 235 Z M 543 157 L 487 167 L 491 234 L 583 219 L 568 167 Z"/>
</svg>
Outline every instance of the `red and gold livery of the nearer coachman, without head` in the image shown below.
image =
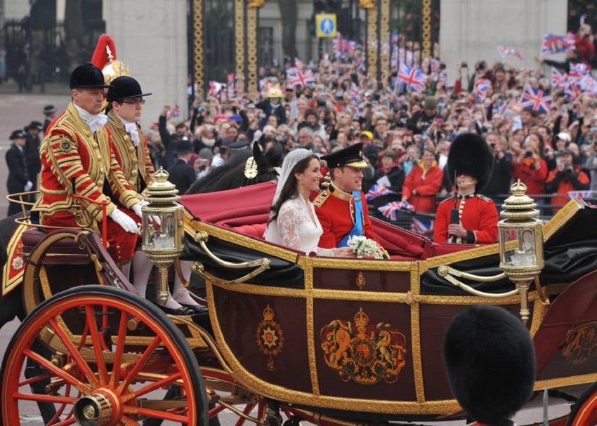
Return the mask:
<svg viewBox="0 0 597 426">
<path fill-rule="evenodd" d="M 39 212 L 41 225 L 53 227 L 80 227 L 84 225 L 99 230 L 102 206 L 83 199 L 76 194 L 96 201 L 107 201 L 109 215 L 115 204 L 103 194 L 105 180 L 112 194 L 122 206 L 131 208 L 139 202 L 136 192 L 126 182 L 114 157 L 110 132 L 106 128 L 92 133 L 81 120 L 79 112 L 71 103 L 46 131 L 39 150 L 41 196 L 33 207 Z M 81 208 L 75 208 L 81 206 Z M 77 218 L 75 218 L 77 213 Z M 107 218 L 108 251 L 117 262 L 133 257 L 137 236 L 125 232 L 120 225 Z"/>
</svg>

